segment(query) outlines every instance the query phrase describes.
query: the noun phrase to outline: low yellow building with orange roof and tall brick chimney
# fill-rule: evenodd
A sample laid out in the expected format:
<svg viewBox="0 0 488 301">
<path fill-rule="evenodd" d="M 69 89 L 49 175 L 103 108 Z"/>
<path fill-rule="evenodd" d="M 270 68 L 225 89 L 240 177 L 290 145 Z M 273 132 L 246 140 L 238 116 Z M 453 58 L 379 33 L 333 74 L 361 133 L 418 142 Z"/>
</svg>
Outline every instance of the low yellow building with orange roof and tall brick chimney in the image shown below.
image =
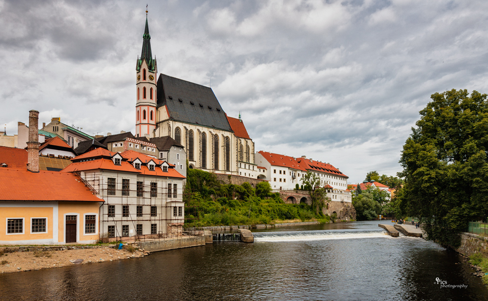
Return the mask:
<svg viewBox="0 0 488 301">
<path fill-rule="evenodd" d="M 74 173 L 40 170 L 38 116 L 27 151 L 0 147 L 0 244 L 93 244 L 103 200 Z"/>
</svg>

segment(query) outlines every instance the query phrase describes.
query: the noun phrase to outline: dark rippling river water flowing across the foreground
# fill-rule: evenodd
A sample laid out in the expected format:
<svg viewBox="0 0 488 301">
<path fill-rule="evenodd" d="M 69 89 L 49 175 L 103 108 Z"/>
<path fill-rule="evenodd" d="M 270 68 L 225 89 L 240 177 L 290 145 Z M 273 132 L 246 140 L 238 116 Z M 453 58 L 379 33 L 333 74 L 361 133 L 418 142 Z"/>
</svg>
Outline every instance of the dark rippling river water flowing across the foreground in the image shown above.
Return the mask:
<svg viewBox="0 0 488 301">
<path fill-rule="evenodd" d="M 459 254 L 389 237 L 378 221 L 254 234 L 254 244 L 0 274 L 0 300 L 488 300 Z"/>
</svg>

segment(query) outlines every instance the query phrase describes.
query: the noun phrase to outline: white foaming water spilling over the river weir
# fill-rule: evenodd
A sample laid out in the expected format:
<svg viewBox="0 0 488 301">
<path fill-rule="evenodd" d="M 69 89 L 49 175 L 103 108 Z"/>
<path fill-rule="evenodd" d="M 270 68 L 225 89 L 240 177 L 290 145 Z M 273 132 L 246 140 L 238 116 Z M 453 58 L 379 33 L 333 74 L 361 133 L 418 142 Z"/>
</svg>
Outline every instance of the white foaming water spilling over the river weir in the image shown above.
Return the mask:
<svg viewBox="0 0 488 301">
<path fill-rule="evenodd" d="M 254 234 L 255 242 L 301 242 L 335 239 L 358 239 L 389 237 L 385 231 L 293 231 L 293 232 L 258 232 Z"/>
</svg>

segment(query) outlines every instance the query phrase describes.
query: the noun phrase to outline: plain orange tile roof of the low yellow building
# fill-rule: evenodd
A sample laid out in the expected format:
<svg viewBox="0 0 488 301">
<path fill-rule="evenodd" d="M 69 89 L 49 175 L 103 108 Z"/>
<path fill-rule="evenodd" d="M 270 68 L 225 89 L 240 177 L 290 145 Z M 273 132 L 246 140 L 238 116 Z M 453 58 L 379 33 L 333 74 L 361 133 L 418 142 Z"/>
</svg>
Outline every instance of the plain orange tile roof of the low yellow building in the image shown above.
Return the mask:
<svg viewBox="0 0 488 301">
<path fill-rule="evenodd" d="M 82 201 L 103 202 L 81 178 L 60 171 L 31 172 L 27 169 L 0 168 L 2 201 Z"/>
</svg>

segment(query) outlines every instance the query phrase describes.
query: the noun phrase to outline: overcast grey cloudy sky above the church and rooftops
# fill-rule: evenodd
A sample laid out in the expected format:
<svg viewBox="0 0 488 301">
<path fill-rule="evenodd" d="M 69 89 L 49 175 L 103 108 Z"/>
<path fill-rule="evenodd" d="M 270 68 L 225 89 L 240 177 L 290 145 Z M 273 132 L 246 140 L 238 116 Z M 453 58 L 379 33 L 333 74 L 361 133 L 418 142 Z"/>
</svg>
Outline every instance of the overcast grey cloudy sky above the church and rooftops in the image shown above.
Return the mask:
<svg viewBox="0 0 488 301">
<path fill-rule="evenodd" d="M 264 150 L 395 175 L 430 95 L 488 93 L 486 0 L 149 1 L 158 71 L 211 85 Z M 0 124 L 135 132 L 146 1 L 0 0 Z M 3 129 L 1 129 L 3 131 Z"/>
</svg>

